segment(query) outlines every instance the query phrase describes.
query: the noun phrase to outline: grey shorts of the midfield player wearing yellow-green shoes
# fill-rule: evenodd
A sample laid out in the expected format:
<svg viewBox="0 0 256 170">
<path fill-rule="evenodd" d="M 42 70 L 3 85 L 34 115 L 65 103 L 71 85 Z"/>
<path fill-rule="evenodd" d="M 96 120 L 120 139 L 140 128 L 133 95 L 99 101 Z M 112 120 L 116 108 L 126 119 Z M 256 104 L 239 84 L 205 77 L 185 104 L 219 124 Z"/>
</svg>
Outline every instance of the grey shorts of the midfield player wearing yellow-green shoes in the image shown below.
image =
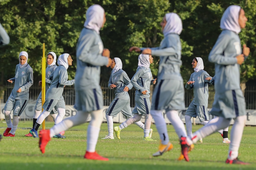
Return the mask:
<svg viewBox="0 0 256 170">
<path fill-rule="evenodd" d="M 151 103 L 149 98 L 141 98 L 135 96 L 135 107 L 132 111 L 133 114 L 150 114 Z"/>
</svg>

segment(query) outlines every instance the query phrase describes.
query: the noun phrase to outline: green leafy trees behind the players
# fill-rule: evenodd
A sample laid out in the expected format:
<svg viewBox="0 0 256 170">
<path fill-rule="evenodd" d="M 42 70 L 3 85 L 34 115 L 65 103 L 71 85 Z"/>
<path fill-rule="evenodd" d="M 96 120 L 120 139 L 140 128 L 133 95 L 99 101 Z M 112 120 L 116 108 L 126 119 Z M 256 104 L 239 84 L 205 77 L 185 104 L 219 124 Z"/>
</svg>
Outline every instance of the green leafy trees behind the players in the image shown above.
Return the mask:
<svg viewBox="0 0 256 170">
<path fill-rule="evenodd" d="M 1 83 L 14 76 L 20 51 L 29 53 L 28 61 L 34 69 L 34 77 L 40 77 L 42 43 L 45 43 L 45 53 L 71 54 L 74 62 L 68 73 L 69 79 L 74 78 L 75 47 L 86 19 L 86 10 L 92 4 L 100 4 L 105 9 L 107 21 L 100 32 L 102 41 L 110 50 L 111 58 L 121 58 L 123 69 L 130 78 L 136 71 L 139 54 L 129 53 L 129 47 L 159 46 L 163 38 L 162 18 L 167 12 L 178 13 L 183 22 L 180 37 L 184 81 L 193 72 L 191 62 L 197 56 L 203 58 L 205 70 L 214 75 L 214 64 L 208 62 L 208 55 L 221 32 L 220 19 L 229 5 L 241 5 L 248 22 L 239 35 L 241 43 L 251 49 L 247 61 L 241 65 L 241 82 L 256 77 L 255 0 L 0 0 L 0 22 L 10 36 L 10 44 L 0 49 Z M 154 57 L 151 64 L 154 77 L 157 76 L 158 62 L 159 58 Z M 110 71 L 110 68 L 102 67 L 101 81 L 108 81 Z"/>
</svg>

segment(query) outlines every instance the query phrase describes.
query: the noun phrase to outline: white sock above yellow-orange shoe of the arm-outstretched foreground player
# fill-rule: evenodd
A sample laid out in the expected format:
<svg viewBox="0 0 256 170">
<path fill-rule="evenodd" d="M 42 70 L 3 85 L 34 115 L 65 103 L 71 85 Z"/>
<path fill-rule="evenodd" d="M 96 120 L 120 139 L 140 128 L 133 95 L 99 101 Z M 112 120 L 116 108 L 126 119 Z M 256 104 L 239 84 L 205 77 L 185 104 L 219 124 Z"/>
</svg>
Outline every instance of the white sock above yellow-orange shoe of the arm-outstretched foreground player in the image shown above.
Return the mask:
<svg viewBox="0 0 256 170">
<path fill-rule="evenodd" d="M 150 113 L 153 116 L 153 119 L 155 121 L 155 125 L 157 127 L 157 131 L 159 133 L 161 143 L 163 145 L 167 145 L 169 143 L 169 135 L 167 133 L 166 122 L 162 115 L 162 111 L 161 110 L 151 110 Z M 185 129 L 185 127 L 184 127 L 184 129 Z"/>
</svg>

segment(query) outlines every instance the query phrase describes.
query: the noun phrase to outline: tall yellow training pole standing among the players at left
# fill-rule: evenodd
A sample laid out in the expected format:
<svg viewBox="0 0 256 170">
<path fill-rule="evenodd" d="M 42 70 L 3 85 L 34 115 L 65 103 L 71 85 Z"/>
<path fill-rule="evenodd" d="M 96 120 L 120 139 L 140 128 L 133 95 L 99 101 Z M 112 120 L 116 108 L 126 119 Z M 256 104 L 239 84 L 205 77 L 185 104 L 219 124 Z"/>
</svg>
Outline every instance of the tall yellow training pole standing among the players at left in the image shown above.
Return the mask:
<svg viewBox="0 0 256 170">
<path fill-rule="evenodd" d="M 43 44 L 43 57 L 42 57 L 42 106 L 45 103 L 45 62 L 46 62 L 46 58 L 45 58 L 45 43 Z M 42 107 L 42 111 L 43 111 L 43 107 Z M 45 120 L 42 123 L 42 129 L 45 129 Z"/>
</svg>

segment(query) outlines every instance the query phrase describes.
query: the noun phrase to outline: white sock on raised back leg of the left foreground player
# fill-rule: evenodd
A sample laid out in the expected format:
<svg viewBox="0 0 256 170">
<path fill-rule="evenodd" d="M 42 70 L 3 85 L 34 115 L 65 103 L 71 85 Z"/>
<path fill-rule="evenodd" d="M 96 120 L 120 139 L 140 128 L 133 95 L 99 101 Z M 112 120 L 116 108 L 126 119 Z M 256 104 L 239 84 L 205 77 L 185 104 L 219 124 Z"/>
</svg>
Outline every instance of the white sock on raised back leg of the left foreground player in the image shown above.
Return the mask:
<svg viewBox="0 0 256 170">
<path fill-rule="evenodd" d="M 59 132 L 67 130 L 73 126 L 85 123 L 88 116 L 89 116 L 89 112 L 78 111 L 75 116 L 68 117 L 67 119 L 64 119 L 59 124 L 54 125 L 50 129 L 50 137 L 53 137 L 54 135 L 58 135 Z"/>
</svg>

